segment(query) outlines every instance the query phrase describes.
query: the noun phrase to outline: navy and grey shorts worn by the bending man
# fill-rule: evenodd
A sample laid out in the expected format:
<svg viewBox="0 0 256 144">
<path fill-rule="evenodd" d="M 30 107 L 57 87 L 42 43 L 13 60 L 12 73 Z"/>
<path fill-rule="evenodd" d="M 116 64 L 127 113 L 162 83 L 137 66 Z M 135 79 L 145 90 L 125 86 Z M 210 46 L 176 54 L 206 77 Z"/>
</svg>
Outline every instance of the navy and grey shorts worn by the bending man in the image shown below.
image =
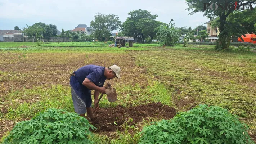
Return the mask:
<svg viewBox="0 0 256 144">
<path fill-rule="evenodd" d="M 86 113 L 86 107 L 91 107 L 91 91 L 82 89 L 79 82 L 76 82 L 75 76 L 70 78 L 70 88 L 75 112 L 78 114 Z"/>
</svg>

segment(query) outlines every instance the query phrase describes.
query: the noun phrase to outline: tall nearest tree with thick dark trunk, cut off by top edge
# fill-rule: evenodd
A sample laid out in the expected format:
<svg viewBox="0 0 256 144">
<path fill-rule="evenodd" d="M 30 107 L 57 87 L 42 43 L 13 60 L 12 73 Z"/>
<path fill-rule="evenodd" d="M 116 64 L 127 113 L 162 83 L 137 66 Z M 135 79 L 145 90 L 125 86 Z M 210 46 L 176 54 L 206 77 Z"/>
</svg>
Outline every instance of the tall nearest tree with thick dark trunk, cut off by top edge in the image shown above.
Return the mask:
<svg viewBox="0 0 256 144">
<path fill-rule="evenodd" d="M 226 22 L 226 20 L 229 17 L 229 15 L 235 11 L 235 2 L 237 2 L 238 4 L 237 9 L 239 9 L 242 5 L 255 3 L 256 0 L 225 0 L 224 6 L 223 5 L 222 7 L 219 6 L 217 10 L 211 10 L 210 8 L 204 9 L 204 6 L 207 6 L 207 4 L 209 3 L 223 4 L 224 3 L 223 0 L 186 0 L 187 5 L 189 6 L 187 10 L 190 10 L 190 13 L 189 13 L 190 15 L 197 12 L 203 12 L 203 16 L 207 16 L 210 19 L 219 17 L 220 24 L 218 26 L 218 29 L 220 34 L 219 34 L 219 39 L 216 42 L 215 49 L 221 50 L 221 49 L 229 48 L 229 42 L 230 42 L 230 37 L 232 35 L 231 33 L 232 31 L 226 31 L 227 28 L 230 27 L 230 25 Z M 248 8 L 250 8 L 250 6 Z M 239 33 L 239 34 L 242 35 L 243 33 Z"/>
</svg>

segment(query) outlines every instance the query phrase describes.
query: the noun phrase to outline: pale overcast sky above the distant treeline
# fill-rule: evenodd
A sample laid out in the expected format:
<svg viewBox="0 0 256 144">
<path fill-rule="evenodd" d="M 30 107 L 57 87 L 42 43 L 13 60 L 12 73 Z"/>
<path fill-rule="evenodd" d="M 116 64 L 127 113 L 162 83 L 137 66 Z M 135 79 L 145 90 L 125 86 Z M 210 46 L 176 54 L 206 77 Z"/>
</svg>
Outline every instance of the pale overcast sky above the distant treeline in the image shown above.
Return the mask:
<svg viewBox="0 0 256 144">
<path fill-rule="evenodd" d="M 148 10 L 157 14 L 158 21 L 169 23 L 174 19 L 175 27 L 191 26 L 192 29 L 208 21 L 202 13 L 188 15 L 185 0 L 0 0 L 0 29 L 14 29 L 33 25 L 36 22 L 55 24 L 72 30 L 78 24 L 87 24 L 94 20 L 96 13 L 117 14 L 124 22 L 128 12 Z"/>
</svg>

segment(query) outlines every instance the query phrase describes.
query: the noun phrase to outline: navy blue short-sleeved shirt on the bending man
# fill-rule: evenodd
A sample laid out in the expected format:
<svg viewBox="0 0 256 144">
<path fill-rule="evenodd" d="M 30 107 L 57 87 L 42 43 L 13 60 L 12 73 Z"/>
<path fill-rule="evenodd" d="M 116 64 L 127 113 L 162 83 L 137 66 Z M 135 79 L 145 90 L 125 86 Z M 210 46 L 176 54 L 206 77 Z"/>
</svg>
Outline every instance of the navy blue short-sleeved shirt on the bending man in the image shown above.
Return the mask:
<svg viewBox="0 0 256 144">
<path fill-rule="evenodd" d="M 75 71 L 75 75 L 80 84 L 83 84 L 85 78 L 88 78 L 96 86 L 102 87 L 106 80 L 106 77 L 104 76 L 104 71 L 105 67 L 96 65 L 86 65 Z M 88 88 L 86 87 L 86 89 Z"/>
</svg>

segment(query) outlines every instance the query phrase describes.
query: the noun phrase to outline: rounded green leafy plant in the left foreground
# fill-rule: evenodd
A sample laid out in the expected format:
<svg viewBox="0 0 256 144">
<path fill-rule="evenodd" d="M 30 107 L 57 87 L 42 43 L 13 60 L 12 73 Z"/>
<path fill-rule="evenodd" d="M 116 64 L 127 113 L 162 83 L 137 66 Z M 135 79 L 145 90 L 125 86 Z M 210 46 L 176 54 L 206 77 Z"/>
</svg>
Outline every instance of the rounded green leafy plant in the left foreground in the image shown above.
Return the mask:
<svg viewBox="0 0 256 144">
<path fill-rule="evenodd" d="M 30 121 L 13 127 L 3 144 L 78 144 L 91 143 L 89 129 L 95 129 L 84 117 L 62 109 L 48 109 Z"/>
</svg>

